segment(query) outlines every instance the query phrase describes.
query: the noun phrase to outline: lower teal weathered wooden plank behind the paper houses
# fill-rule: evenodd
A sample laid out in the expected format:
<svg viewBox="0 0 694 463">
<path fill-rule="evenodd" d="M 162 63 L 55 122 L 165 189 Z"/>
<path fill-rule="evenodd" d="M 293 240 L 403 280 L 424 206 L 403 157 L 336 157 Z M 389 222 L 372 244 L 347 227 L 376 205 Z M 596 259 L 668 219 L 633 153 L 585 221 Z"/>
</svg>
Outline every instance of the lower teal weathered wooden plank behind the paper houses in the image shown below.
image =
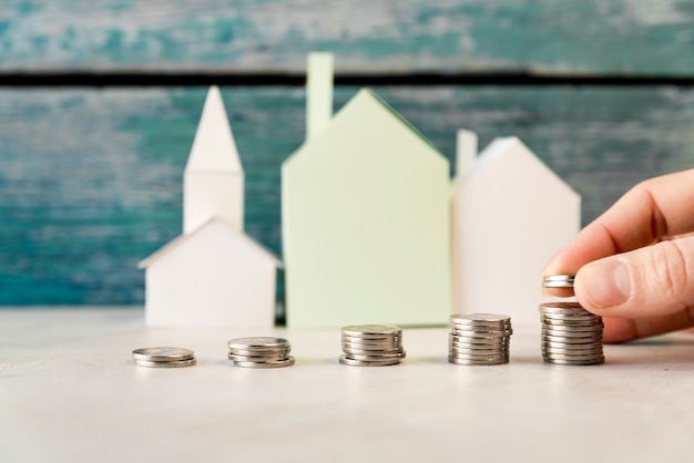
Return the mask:
<svg viewBox="0 0 694 463">
<path fill-rule="evenodd" d="M 481 145 L 518 135 L 583 195 L 584 223 L 641 179 L 694 167 L 693 90 L 375 90 L 449 158 L 459 127 Z M 205 91 L 0 90 L 0 305 L 142 303 L 135 265 L 181 233 Z M 337 89 L 336 106 L 356 91 Z M 246 230 L 280 253 L 279 166 L 303 141 L 304 91 L 223 95 Z"/>
</svg>

